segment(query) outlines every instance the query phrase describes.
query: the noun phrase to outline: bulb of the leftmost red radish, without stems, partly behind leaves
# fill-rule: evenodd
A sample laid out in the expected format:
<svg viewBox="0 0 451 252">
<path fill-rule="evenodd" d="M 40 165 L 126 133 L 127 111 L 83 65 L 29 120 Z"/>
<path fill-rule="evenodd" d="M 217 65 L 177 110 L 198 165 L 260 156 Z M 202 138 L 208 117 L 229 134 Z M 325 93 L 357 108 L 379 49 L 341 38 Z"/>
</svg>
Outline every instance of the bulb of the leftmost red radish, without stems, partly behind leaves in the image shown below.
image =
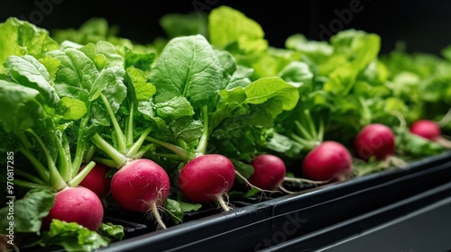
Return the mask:
<svg viewBox="0 0 451 252">
<path fill-rule="evenodd" d="M 57 219 L 97 230 L 103 218 L 104 207 L 96 193 L 82 186 L 68 187 L 56 193 L 49 215 L 42 220 L 42 229 L 50 229 L 51 220 Z"/>
</svg>

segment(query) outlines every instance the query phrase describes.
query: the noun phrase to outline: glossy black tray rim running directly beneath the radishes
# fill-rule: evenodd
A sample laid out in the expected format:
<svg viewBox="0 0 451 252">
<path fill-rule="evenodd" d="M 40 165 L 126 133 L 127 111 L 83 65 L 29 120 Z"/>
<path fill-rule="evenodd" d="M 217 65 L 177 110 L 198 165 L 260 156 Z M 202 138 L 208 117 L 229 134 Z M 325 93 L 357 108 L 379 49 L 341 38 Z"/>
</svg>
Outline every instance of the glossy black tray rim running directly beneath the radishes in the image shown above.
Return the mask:
<svg viewBox="0 0 451 252">
<path fill-rule="evenodd" d="M 211 215 L 200 215 L 198 219 L 169 229 L 131 235 L 99 251 L 262 250 L 291 240 L 296 242 L 318 230 L 401 202 L 449 181 L 451 153 L 446 152 L 413 162 L 403 169 L 243 204 L 234 211 L 209 212 Z M 382 223 L 382 220 L 376 218 L 373 222 Z"/>
</svg>

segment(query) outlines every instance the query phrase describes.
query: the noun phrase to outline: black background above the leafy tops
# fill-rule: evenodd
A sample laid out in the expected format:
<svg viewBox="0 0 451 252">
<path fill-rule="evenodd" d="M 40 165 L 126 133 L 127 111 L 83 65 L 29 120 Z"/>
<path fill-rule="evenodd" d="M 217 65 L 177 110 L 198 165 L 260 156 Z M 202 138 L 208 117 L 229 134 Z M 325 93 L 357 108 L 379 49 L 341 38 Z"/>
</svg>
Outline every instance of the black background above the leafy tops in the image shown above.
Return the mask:
<svg viewBox="0 0 451 252">
<path fill-rule="evenodd" d="M 360 11 L 350 12 L 350 4 Z M 408 51 L 435 54 L 451 44 L 451 2 L 445 0 L 3 0 L 1 5 L 0 22 L 16 16 L 52 30 L 77 28 L 91 17 L 104 17 L 120 27 L 120 36 L 138 42 L 165 35 L 158 23 L 164 14 L 207 14 L 219 5 L 228 5 L 260 23 L 275 47 L 283 47 L 293 33 L 327 40 L 328 34 L 349 28 L 381 35 L 382 52 L 394 49 L 397 41 L 404 41 Z"/>
</svg>

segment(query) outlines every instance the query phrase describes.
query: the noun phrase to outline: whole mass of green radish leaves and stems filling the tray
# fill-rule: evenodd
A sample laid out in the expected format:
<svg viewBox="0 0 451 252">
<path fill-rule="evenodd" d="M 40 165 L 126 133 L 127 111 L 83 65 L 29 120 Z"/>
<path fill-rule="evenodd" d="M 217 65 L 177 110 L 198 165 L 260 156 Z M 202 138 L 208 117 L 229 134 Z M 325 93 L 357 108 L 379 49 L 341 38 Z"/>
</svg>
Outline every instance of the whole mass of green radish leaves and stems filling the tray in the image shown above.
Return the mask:
<svg viewBox="0 0 451 252">
<path fill-rule="evenodd" d="M 206 153 L 232 158 L 247 178 L 260 153 L 299 163 L 325 139 L 351 148 L 372 122 L 394 130 L 404 160 L 446 151 L 406 126 L 448 111 L 451 47 L 441 56 L 381 55 L 379 35 L 346 30 L 329 41 L 293 34 L 272 48 L 258 23 L 226 5 L 160 22 L 168 38 L 148 45 L 118 37 L 100 18 L 52 36 L 14 18 L 0 23 L 0 150 L 29 159 L 31 167 L 15 167 L 19 184 L 32 178 L 25 189 L 57 189 L 74 182 L 83 162 L 122 166 L 129 157 L 152 158 L 176 178 L 189 157 Z M 373 165 L 380 164 L 358 169 Z M 164 208 L 178 224 L 203 206 L 184 202 L 173 186 Z M 90 251 L 124 238 L 112 223 L 92 232 L 58 220 L 41 234 L 51 191 L 31 190 L 14 203 L 15 230 L 39 236 L 34 245 Z"/>
</svg>

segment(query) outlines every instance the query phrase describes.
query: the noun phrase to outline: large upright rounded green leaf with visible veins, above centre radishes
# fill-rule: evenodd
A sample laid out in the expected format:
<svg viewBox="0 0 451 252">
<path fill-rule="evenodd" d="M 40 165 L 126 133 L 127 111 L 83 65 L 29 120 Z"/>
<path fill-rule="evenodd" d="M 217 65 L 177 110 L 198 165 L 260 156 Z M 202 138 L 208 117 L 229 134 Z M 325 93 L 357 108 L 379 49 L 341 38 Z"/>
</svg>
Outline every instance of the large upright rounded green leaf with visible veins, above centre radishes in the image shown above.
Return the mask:
<svg viewBox="0 0 451 252">
<path fill-rule="evenodd" d="M 196 109 L 214 107 L 222 89 L 223 68 L 202 35 L 170 40 L 152 68 L 150 80 L 157 87 L 155 103 L 184 96 Z"/>
</svg>

